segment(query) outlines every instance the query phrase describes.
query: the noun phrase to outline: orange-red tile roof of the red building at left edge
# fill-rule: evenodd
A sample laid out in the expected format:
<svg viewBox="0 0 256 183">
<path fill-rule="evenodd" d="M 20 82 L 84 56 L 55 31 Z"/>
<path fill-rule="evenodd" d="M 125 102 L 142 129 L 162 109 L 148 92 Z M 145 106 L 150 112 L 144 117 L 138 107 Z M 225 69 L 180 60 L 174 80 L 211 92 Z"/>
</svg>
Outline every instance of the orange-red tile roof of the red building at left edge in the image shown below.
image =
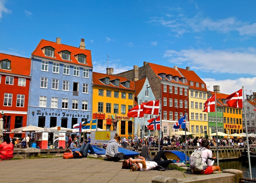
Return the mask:
<svg viewBox="0 0 256 183">
<path fill-rule="evenodd" d="M 8 59 L 11 61 L 11 70 L 0 68 L 0 72 L 9 74 L 18 74 L 22 76 L 29 76 L 30 74 L 30 58 L 18 57 L 14 55 L 8 55 L 0 53 L 0 61 Z"/>
</svg>

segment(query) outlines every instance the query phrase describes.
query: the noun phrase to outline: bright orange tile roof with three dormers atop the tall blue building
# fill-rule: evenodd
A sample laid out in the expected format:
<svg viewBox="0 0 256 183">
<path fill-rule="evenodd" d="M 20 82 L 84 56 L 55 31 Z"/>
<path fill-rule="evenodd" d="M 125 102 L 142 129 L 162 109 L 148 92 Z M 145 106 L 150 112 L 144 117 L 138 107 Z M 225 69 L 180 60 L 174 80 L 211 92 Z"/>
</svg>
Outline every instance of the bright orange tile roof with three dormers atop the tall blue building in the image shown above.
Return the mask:
<svg viewBox="0 0 256 183">
<path fill-rule="evenodd" d="M 44 48 L 46 46 L 51 46 L 51 47 L 55 48 L 54 57 L 45 56 L 45 54 L 42 51 L 42 48 Z M 64 50 L 67 50 L 67 51 L 71 52 L 71 54 L 70 54 L 70 59 L 71 60 L 63 60 L 61 58 L 61 56 L 58 54 L 58 52 L 64 51 Z M 86 64 L 79 63 L 76 60 L 74 55 L 77 55 L 77 54 L 84 54 L 84 55 L 87 56 L 86 57 Z M 43 58 L 47 58 L 47 59 L 51 59 L 51 60 L 58 60 L 58 61 L 61 61 L 61 62 L 67 62 L 67 63 L 72 63 L 72 64 L 78 64 L 78 65 L 93 67 L 92 66 L 91 50 L 83 50 L 83 49 L 80 49 L 78 47 L 73 47 L 73 46 L 69 46 L 69 45 L 65 45 L 65 44 L 58 44 L 56 42 L 47 41 L 47 40 L 44 40 L 44 39 L 41 39 L 41 41 L 39 42 L 36 49 L 32 52 L 31 55 L 39 56 L 39 57 L 43 57 Z"/>
</svg>

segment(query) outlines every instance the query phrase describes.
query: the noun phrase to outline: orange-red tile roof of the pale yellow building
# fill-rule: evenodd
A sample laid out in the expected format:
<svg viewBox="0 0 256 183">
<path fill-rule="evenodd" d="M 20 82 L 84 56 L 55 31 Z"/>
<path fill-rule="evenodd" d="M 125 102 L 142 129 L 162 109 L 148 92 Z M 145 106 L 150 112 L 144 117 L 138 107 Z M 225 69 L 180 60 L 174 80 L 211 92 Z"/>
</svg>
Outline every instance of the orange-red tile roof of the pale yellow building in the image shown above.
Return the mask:
<svg viewBox="0 0 256 183">
<path fill-rule="evenodd" d="M 194 86 L 190 85 L 189 88 L 195 89 L 195 90 L 206 91 L 207 92 L 207 88 L 206 88 L 205 82 L 194 71 L 191 71 L 191 70 L 188 71 L 188 70 L 182 69 L 182 68 L 178 68 L 178 70 L 188 80 L 188 84 L 189 85 L 190 85 L 189 81 L 193 81 L 194 82 Z M 199 83 L 199 87 L 196 87 L 196 83 Z M 201 84 L 204 84 L 204 88 L 202 88 Z"/>
</svg>

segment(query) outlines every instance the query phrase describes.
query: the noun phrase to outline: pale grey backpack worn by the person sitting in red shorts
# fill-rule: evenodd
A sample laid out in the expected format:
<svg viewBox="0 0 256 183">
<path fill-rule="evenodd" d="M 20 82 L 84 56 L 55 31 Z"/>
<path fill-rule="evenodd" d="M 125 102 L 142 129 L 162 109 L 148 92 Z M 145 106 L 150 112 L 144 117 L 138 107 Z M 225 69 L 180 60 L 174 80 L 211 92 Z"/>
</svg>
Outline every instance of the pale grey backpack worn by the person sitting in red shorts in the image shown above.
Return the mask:
<svg viewBox="0 0 256 183">
<path fill-rule="evenodd" d="M 193 152 L 189 158 L 189 167 L 192 171 L 203 171 L 203 166 L 206 166 L 204 163 L 202 163 L 202 151 L 205 150 L 205 148 L 202 147 L 201 149 L 196 149 L 195 152 Z"/>
</svg>

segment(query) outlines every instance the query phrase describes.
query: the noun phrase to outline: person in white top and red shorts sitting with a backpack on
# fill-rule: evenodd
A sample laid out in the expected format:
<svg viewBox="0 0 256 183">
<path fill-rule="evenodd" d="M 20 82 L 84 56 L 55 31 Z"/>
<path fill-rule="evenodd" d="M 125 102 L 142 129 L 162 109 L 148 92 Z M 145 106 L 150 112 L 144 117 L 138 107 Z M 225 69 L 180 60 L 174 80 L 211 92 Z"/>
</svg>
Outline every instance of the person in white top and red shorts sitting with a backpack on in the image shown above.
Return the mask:
<svg viewBox="0 0 256 183">
<path fill-rule="evenodd" d="M 194 174 L 209 175 L 214 171 L 221 171 L 219 166 L 213 166 L 213 164 L 216 160 L 216 157 L 212 157 L 212 151 L 209 150 L 209 147 L 210 147 L 209 141 L 202 140 L 202 148 L 200 148 L 200 150 L 202 149 L 201 157 L 202 157 L 202 163 L 205 164 L 205 165 L 203 165 L 204 170 L 203 171 L 193 171 Z"/>
</svg>

